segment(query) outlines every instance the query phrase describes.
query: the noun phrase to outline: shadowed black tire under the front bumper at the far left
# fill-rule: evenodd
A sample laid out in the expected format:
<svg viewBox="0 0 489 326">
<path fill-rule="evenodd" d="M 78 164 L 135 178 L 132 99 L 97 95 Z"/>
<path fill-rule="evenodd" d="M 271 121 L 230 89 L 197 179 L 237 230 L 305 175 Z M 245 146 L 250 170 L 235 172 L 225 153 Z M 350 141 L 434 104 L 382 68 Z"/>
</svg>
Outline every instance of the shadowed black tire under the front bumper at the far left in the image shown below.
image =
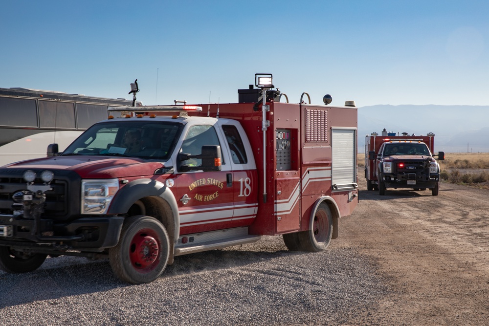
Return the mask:
<svg viewBox="0 0 489 326">
<path fill-rule="evenodd" d="M 44 254 L 27 254 L 0 246 L 0 269 L 7 273 L 28 273 L 38 269 L 46 260 Z"/>
</svg>

